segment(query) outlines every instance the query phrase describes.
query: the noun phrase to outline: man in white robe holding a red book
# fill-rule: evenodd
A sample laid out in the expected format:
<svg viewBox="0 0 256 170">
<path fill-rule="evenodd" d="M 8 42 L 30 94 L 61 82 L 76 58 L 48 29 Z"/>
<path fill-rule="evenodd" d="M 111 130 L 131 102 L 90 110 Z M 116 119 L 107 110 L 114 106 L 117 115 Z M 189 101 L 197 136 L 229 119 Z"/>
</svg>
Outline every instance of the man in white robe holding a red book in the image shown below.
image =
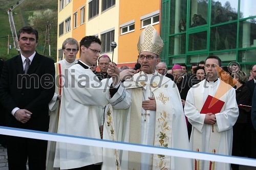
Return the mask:
<svg viewBox="0 0 256 170">
<path fill-rule="evenodd" d="M 239 109 L 236 92 L 218 78 L 222 61 L 218 56 L 205 60 L 206 79 L 190 88 L 184 107 L 192 125 L 189 147 L 193 151 L 231 155 L 233 126 Z M 229 163 L 195 159 L 193 169 L 230 169 Z"/>
</svg>

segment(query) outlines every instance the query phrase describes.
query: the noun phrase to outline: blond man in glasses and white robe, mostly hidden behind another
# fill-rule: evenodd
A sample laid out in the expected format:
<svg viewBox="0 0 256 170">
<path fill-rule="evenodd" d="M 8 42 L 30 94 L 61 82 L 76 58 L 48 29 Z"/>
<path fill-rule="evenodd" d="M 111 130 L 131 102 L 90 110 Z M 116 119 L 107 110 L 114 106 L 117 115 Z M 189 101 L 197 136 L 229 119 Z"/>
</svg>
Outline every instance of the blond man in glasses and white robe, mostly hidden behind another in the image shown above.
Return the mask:
<svg viewBox="0 0 256 170">
<path fill-rule="evenodd" d="M 61 101 L 61 90 L 64 86 L 65 72 L 69 67 L 77 63 L 76 55 L 79 50 L 79 44 L 74 38 L 67 38 L 62 43 L 62 52 L 64 59 L 55 63 L 55 93 L 49 103 L 49 132 L 57 133 L 58 119 L 59 119 L 59 107 Z M 56 142 L 48 141 L 47 145 L 47 158 L 46 158 L 46 170 L 59 169 L 53 167 L 54 157 L 56 150 Z"/>
</svg>

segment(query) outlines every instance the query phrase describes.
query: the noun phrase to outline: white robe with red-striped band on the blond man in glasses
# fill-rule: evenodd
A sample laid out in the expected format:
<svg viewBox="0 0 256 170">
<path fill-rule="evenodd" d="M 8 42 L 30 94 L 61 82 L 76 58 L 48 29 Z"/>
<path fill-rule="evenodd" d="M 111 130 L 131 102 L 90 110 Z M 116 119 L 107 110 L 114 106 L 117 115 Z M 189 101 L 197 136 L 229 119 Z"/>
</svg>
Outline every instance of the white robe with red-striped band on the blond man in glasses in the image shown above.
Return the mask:
<svg viewBox="0 0 256 170">
<path fill-rule="evenodd" d="M 59 100 L 57 96 L 61 94 L 61 86 L 65 82 L 65 71 L 72 65 L 77 63 L 75 60 L 72 63 L 67 62 L 66 59 L 60 60 L 55 63 L 55 93 L 54 96 L 49 103 L 49 116 L 50 116 L 50 123 L 49 123 L 49 132 L 57 133 L 58 130 L 58 117 L 59 117 Z M 61 83 L 60 83 L 61 77 Z M 46 158 L 46 170 L 53 170 L 58 169 L 53 167 L 54 157 L 55 157 L 55 150 L 56 150 L 56 142 L 55 141 L 48 141 L 47 145 L 47 158 Z"/>
</svg>

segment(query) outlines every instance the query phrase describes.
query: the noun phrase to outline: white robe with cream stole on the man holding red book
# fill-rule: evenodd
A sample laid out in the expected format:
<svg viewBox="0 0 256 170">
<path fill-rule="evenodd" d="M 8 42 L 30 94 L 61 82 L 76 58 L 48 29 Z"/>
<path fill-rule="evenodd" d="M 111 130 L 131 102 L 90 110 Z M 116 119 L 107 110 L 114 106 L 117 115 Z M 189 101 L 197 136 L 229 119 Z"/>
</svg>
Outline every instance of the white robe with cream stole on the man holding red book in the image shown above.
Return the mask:
<svg viewBox="0 0 256 170">
<path fill-rule="evenodd" d="M 225 102 L 221 108 L 221 112 L 215 114 L 217 122 L 214 126 L 205 124 L 205 114 L 200 114 L 201 108 L 208 95 L 219 95 L 217 99 Z M 191 150 L 231 155 L 233 140 L 232 127 L 236 123 L 239 115 L 234 88 L 220 79 L 211 83 L 203 80 L 191 87 L 188 91 L 184 112 L 189 123 L 192 125 L 189 141 Z M 212 127 L 214 129 L 212 129 Z M 212 170 L 230 170 L 230 164 L 193 160 L 193 168 L 197 170 L 210 168 Z"/>
</svg>

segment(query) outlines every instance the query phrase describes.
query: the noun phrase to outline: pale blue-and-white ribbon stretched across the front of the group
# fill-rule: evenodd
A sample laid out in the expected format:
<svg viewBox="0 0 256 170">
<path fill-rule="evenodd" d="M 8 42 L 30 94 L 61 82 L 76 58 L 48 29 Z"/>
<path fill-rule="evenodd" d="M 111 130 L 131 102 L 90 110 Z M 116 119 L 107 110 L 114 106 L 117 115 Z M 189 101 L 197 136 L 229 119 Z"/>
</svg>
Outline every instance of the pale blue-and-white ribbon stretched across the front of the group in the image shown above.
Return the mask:
<svg viewBox="0 0 256 170">
<path fill-rule="evenodd" d="M 33 139 L 41 139 L 41 140 L 51 140 L 51 141 L 65 142 L 65 143 L 73 143 L 73 144 L 81 144 L 81 145 L 90 145 L 93 147 L 103 147 L 103 148 L 111 148 L 111 149 L 126 150 L 126 151 L 133 151 L 133 152 L 143 152 L 143 153 L 150 153 L 150 154 L 178 156 L 183 158 L 210 160 L 210 161 L 233 163 L 233 164 L 256 167 L 256 159 L 252 159 L 252 158 L 200 153 L 200 152 L 178 150 L 178 149 L 172 149 L 172 148 L 160 148 L 160 147 L 154 147 L 150 145 L 117 142 L 117 141 L 111 141 L 111 140 L 63 135 L 63 134 L 41 132 L 41 131 L 34 131 L 34 130 L 27 130 L 27 129 L 9 128 L 9 127 L 2 127 L 2 126 L 0 126 L 0 134 L 33 138 Z"/>
</svg>

